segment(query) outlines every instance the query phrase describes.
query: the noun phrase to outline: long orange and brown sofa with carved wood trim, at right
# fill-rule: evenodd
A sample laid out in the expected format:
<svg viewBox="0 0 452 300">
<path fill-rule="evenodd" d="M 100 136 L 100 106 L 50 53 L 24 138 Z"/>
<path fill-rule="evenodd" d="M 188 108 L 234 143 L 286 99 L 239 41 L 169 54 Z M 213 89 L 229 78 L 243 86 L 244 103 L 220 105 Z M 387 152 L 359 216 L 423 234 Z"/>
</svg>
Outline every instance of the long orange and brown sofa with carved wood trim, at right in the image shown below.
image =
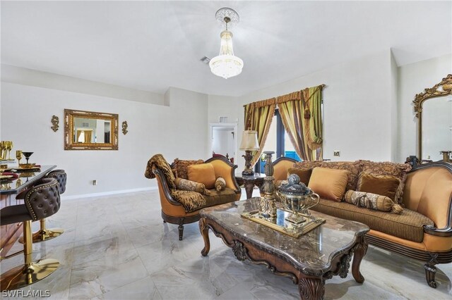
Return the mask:
<svg viewBox="0 0 452 300">
<path fill-rule="evenodd" d="M 321 196 L 319 204 L 312 210 L 368 225 L 371 228 L 366 237 L 369 244 L 424 261 L 427 283 L 430 287 L 436 287 L 434 265 L 452 262 L 450 163 L 427 163 L 415 168 L 411 168 L 408 163 L 371 161 L 305 161 L 289 167 L 287 165 L 290 165 L 287 160 L 285 165 L 275 162 L 276 182 L 287 179 L 288 173 L 304 172 L 299 173 L 300 177 L 304 176 L 305 183 Z M 337 182 L 332 183 L 328 176 L 313 178 L 314 173 L 324 169 L 347 171 L 342 198 L 331 199 L 328 194 L 328 189 L 335 189 L 334 184 Z M 369 173 L 374 178 L 398 178 L 399 185 L 393 191 L 393 201 L 403 207 L 400 214 L 376 211 L 344 201 L 345 194 L 350 193 L 345 192 L 358 190 L 363 178 Z M 378 182 L 373 184 L 378 185 Z M 328 185 L 330 187 L 322 191 L 323 186 Z M 374 186 L 369 185 L 368 188 Z"/>
</svg>

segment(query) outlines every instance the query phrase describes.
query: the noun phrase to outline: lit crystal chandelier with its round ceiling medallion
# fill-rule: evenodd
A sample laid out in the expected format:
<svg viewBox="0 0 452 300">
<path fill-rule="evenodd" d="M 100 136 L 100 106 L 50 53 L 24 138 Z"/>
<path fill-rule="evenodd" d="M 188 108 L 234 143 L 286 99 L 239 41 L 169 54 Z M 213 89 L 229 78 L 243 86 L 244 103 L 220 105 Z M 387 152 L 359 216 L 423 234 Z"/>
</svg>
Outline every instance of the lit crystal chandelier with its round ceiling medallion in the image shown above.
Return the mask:
<svg viewBox="0 0 452 300">
<path fill-rule="evenodd" d="M 239 14 L 232 8 L 223 7 L 215 13 L 215 18 L 221 24 L 225 24 L 226 30 L 220 33 L 220 54 L 210 60 L 210 71 L 217 76 L 227 79 L 242 73 L 243 68 L 242 59 L 234 56 L 232 32 L 227 30 L 228 25 L 229 27 L 233 27 L 239 23 Z"/>
</svg>

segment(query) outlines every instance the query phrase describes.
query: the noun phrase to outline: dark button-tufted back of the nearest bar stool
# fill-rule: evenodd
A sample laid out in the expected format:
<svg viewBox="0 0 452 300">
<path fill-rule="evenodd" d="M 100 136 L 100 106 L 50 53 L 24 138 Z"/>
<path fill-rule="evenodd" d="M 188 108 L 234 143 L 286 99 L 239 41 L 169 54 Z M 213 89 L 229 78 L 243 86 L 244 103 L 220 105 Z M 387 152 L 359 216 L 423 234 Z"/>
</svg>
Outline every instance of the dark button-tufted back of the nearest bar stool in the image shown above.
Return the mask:
<svg viewBox="0 0 452 300">
<path fill-rule="evenodd" d="M 43 178 L 24 196 L 31 220 L 41 220 L 59 211 L 59 184 L 55 178 Z"/>
</svg>

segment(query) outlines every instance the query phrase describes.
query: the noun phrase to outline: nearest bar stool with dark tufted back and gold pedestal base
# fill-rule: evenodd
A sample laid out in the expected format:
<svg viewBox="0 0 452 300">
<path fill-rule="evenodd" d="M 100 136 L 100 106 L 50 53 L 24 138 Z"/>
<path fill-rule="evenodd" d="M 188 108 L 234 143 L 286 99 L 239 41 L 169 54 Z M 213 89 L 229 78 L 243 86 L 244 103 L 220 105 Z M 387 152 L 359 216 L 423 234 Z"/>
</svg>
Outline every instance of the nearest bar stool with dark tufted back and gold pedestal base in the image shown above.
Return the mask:
<svg viewBox="0 0 452 300">
<path fill-rule="evenodd" d="M 57 213 L 60 206 L 58 182 L 54 178 L 44 178 L 37 185 L 25 192 L 25 204 L 6 206 L 1 208 L 0 225 L 23 222 L 23 250 L 4 258 L 17 254 L 24 254 L 24 264 L 18 265 L 0 275 L 0 290 L 20 289 L 38 282 L 54 273 L 59 267 L 56 259 L 32 261 L 32 221 L 47 218 Z"/>
</svg>

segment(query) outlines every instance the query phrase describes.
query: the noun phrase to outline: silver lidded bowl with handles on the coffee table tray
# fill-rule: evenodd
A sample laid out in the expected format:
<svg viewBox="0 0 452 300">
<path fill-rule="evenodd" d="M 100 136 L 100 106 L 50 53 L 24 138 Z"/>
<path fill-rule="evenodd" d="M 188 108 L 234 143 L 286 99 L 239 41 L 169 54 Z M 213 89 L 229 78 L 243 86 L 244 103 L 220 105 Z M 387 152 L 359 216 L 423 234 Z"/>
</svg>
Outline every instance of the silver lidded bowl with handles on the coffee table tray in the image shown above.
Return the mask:
<svg viewBox="0 0 452 300">
<path fill-rule="evenodd" d="M 289 175 L 287 181 L 288 183 L 281 185 L 277 192 L 285 210 L 309 215 L 309 208 L 319 204 L 319 195 L 300 182 L 297 174 Z"/>
</svg>

